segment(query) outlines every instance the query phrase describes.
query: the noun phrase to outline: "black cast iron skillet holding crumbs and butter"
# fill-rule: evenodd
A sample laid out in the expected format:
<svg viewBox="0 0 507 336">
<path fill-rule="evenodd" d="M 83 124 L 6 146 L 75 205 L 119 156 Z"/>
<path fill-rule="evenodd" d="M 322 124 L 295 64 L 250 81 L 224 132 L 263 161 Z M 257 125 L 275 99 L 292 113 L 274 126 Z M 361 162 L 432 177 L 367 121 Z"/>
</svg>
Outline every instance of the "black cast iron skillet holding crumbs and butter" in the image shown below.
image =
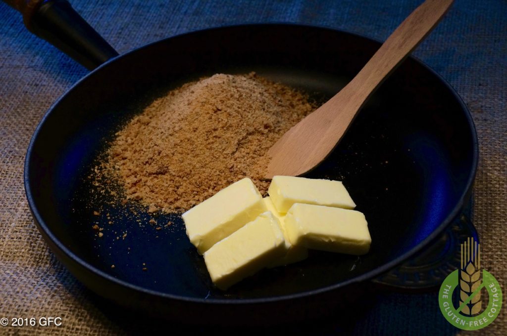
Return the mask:
<svg viewBox="0 0 507 336">
<path fill-rule="evenodd" d="M 25 15 L 32 31 L 89 68 L 116 54 L 89 26 L 76 23 L 66 2 L 45 3 L 31 18 Z M 72 33 L 68 21 L 74 21 Z M 477 136 L 467 108 L 442 77 L 414 58 L 385 81 L 332 155 L 308 175 L 344 181 L 369 222 L 373 243 L 364 257 L 315 252 L 223 292 L 213 288 L 178 215 L 155 214 L 157 223 L 174 222 L 155 230 L 146 212 L 135 215 L 128 205 L 107 203 L 107 195 L 94 196 L 87 177 L 123 122 L 186 81 L 256 71 L 324 100 L 379 46 L 329 28 L 256 24 L 191 32 L 113 57 L 71 87 L 35 130 L 24 172 L 35 224 L 86 286 L 153 315 L 267 323 L 348 306 L 368 290 L 368 280 L 407 260 L 449 225 L 475 177 Z M 97 204 L 104 206 L 99 216 L 93 215 Z M 113 225 L 106 224 L 107 213 Z M 95 222 L 105 227 L 102 238 L 91 229 Z"/>
</svg>

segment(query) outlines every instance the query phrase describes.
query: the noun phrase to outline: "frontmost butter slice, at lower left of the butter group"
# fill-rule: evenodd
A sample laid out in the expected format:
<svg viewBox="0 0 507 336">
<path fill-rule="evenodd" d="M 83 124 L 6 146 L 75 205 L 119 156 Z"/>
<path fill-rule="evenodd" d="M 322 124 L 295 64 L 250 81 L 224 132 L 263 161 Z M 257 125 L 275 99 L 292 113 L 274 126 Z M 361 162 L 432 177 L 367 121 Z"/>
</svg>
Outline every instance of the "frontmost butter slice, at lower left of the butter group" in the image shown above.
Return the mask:
<svg viewBox="0 0 507 336">
<path fill-rule="evenodd" d="M 285 255 L 285 239 L 278 220 L 265 212 L 204 253 L 216 287 L 226 290 Z"/>
</svg>

